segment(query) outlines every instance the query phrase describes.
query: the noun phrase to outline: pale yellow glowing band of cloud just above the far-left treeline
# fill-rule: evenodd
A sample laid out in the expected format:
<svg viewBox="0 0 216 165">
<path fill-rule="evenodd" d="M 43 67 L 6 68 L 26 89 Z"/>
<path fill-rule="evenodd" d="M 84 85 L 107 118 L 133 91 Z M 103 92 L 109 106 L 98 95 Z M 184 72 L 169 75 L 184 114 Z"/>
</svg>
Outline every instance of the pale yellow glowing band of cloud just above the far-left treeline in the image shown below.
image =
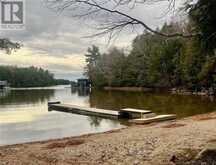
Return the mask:
<svg viewBox="0 0 216 165">
<path fill-rule="evenodd" d="M 31 49 L 23 48 L 13 55 L 0 54 L 2 65 L 16 65 L 22 67 L 38 66 L 51 69 L 56 72 L 81 72 L 85 66 L 85 58 L 81 55 L 64 55 L 63 57 L 51 56 L 48 54 L 33 55 Z"/>
</svg>

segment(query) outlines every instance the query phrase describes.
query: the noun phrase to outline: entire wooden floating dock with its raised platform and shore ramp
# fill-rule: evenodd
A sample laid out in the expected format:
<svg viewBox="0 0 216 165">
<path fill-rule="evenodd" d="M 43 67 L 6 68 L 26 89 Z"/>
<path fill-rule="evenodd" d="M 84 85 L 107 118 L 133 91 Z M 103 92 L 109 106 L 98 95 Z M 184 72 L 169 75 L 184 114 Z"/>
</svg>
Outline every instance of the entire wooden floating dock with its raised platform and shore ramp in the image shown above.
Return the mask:
<svg viewBox="0 0 216 165">
<path fill-rule="evenodd" d="M 74 114 L 86 116 L 98 116 L 104 118 L 127 118 L 131 119 L 131 123 L 135 124 L 149 124 L 152 122 L 161 122 L 166 120 L 176 119 L 176 115 L 156 115 L 150 110 L 125 108 L 119 111 L 81 107 L 77 105 L 61 104 L 60 102 L 49 102 L 49 110 L 56 110 L 60 112 L 70 112 Z"/>
</svg>

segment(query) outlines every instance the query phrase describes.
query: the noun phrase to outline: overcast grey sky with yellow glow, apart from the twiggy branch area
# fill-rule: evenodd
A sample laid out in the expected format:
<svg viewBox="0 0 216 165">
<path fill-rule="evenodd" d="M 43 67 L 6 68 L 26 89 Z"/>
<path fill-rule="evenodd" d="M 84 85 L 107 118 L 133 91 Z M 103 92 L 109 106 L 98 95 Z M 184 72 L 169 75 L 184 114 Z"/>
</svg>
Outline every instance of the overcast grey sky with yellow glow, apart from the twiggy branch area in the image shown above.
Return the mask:
<svg viewBox="0 0 216 165">
<path fill-rule="evenodd" d="M 130 14 L 156 28 L 169 21 L 174 14 L 160 18 L 167 3 L 140 5 Z M 82 77 L 85 52 L 92 44 L 102 51 L 116 45 L 128 48 L 136 33 L 125 32 L 112 44 L 107 38 L 84 38 L 94 33 L 88 21 L 75 20 L 69 12 L 57 14 L 44 5 L 43 0 L 26 0 L 26 28 L 22 31 L 1 31 L 1 37 L 23 43 L 23 48 L 5 55 L 1 52 L 1 65 L 38 66 L 50 70 L 56 78 L 74 80 Z"/>
</svg>

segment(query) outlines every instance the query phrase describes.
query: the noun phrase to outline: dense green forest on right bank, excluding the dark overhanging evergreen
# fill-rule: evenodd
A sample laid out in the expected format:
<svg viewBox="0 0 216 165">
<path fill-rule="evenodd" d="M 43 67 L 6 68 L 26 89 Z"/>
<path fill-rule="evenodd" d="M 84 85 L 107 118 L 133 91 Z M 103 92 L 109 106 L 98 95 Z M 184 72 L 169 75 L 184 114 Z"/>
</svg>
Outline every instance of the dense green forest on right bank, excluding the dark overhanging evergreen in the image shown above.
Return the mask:
<svg viewBox="0 0 216 165">
<path fill-rule="evenodd" d="M 165 24 L 161 32 L 181 30 Z M 199 38 L 164 38 L 145 32 L 137 36 L 128 55 L 117 48 L 92 53 L 86 70 L 93 86 L 186 87 L 201 90 L 214 86 L 216 58 L 202 47 Z M 90 55 L 90 53 L 88 53 Z M 97 58 L 95 54 L 98 54 Z"/>
</svg>

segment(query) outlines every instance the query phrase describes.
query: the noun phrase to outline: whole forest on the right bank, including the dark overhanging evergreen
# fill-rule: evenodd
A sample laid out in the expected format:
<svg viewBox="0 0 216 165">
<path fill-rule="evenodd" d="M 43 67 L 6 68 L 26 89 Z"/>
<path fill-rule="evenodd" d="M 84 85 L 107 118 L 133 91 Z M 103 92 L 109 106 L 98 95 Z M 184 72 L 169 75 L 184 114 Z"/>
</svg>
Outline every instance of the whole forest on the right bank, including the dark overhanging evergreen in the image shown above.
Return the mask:
<svg viewBox="0 0 216 165">
<path fill-rule="evenodd" d="M 215 89 L 216 18 L 213 1 L 200 0 L 188 11 L 187 22 L 169 22 L 159 34 L 144 31 L 132 42 L 130 52 L 113 47 L 101 53 L 88 48 L 85 75 L 95 87 L 183 87 L 194 91 Z"/>
</svg>

